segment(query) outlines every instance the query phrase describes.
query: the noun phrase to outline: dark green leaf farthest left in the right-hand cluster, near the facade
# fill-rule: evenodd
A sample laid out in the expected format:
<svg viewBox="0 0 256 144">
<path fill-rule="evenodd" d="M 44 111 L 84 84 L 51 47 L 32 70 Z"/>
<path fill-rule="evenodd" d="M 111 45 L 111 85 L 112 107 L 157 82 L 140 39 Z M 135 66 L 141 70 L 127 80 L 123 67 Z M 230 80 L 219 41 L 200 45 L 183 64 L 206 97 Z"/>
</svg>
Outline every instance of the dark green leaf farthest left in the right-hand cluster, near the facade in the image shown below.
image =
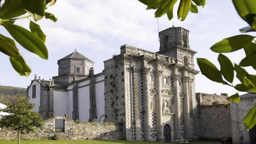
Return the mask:
<svg viewBox="0 0 256 144">
<path fill-rule="evenodd" d="M 203 75 L 212 81 L 224 83 L 221 72 L 217 67 L 205 58 L 197 58 L 198 66 Z"/>
</svg>

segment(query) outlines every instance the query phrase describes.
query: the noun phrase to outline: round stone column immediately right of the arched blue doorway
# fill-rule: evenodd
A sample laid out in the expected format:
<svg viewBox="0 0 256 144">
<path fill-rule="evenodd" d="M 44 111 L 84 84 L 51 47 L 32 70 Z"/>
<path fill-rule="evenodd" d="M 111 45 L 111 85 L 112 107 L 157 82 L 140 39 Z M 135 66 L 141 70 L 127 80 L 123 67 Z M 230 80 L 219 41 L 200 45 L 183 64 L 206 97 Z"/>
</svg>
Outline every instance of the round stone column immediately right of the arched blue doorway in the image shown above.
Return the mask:
<svg viewBox="0 0 256 144">
<path fill-rule="evenodd" d="M 173 75 L 174 139 L 180 139 L 179 74 Z"/>
</svg>

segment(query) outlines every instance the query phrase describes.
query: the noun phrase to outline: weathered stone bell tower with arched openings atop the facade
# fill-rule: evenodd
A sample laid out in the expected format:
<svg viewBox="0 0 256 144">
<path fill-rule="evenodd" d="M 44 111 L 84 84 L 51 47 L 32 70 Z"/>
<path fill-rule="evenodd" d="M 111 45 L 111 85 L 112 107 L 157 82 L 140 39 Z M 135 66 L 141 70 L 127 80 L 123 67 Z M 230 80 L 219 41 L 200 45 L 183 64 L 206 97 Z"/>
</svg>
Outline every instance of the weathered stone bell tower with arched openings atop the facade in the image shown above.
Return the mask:
<svg viewBox="0 0 256 144">
<path fill-rule="evenodd" d="M 189 31 L 182 27 L 170 27 L 159 32 L 160 48 L 157 53 L 176 59 L 176 63 L 194 67 L 194 54 L 190 49 Z"/>
</svg>

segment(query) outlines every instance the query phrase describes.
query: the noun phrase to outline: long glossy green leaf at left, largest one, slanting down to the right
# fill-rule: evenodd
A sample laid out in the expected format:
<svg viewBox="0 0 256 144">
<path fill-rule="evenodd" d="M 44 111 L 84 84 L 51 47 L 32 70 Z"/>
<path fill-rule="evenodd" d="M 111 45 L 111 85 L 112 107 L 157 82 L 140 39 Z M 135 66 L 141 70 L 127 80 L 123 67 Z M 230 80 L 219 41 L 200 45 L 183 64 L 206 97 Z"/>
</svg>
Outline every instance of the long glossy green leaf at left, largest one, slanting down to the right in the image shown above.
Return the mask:
<svg viewBox="0 0 256 144">
<path fill-rule="evenodd" d="M 15 24 L 2 24 L 12 37 L 25 49 L 37 54 L 43 59 L 48 59 L 48 51 L 44 42 L 34 33 Z"/>
</svg>

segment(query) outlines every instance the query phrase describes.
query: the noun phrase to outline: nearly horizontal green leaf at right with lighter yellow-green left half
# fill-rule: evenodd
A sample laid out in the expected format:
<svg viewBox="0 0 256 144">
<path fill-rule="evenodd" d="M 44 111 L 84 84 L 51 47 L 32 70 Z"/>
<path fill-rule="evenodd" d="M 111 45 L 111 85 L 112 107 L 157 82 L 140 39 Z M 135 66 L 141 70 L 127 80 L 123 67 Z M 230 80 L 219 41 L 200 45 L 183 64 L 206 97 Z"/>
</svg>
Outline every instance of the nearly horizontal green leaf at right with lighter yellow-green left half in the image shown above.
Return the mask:
<svg viewBox="0 0 256 144">
<path fill-rule="evenodd" d="M 213 45 L 210 49 L 217 53 L 227 53 L 237 51 L 246 47 L 255 37 L 251 35 L 236 35 L 230 38 L 225 38 L 222 41 Z"/>
</svg>

